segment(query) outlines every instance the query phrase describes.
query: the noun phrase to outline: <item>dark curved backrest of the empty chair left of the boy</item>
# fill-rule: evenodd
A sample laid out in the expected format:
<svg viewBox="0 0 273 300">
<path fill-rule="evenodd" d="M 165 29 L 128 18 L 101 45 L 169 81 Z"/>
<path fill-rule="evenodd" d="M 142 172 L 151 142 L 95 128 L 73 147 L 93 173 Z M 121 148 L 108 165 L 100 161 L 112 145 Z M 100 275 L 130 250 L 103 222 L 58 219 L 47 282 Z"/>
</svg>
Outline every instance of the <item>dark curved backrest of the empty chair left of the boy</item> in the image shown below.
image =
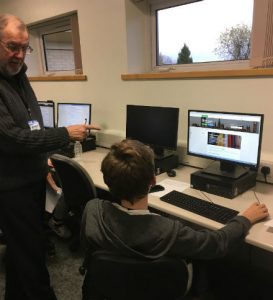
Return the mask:
<svg viewBox="0 0 273 300">
<path fill-rule="evenodd" d="M 87 201 L 97 197 L 93 180 L 76 160 L 60 154 L 53 154 L 50 159 L 69 209 L 73 212 L 82 211 Z"/>
</svg>

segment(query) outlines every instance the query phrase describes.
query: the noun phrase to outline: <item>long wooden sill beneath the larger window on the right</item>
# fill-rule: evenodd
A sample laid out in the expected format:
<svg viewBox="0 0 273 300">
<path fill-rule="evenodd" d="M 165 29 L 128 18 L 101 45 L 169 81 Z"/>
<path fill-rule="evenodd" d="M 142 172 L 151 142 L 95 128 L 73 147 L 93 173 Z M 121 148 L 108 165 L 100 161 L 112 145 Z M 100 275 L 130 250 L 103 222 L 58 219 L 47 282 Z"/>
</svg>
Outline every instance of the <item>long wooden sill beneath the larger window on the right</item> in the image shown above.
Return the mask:
<svg viewBox="0 0 273 300">
<path fill-rule="evenodd" d="M 271 77 L 273 68 L 121 74 L 122 80 Z"/>
</svg>

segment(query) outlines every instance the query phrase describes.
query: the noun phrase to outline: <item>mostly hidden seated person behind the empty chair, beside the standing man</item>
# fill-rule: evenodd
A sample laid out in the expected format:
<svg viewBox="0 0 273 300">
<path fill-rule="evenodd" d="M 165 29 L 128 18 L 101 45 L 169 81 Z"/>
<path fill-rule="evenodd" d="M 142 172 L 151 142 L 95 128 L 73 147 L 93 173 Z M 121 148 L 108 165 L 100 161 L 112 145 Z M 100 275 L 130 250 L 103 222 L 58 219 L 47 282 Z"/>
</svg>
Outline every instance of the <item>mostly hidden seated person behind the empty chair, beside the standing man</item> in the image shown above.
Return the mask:
<svg viewBox="0 0 273 300">
<path fill-rule="evenodd" d="M 48 226 L 59 237 L 68 239 L 71 236 L 71 232 L 67 226 L 65 226 L 64 220 L 68 215 L 69 209 L 66 205 L 62 189 L 56 183 L 58 180 L 55 176 L 55 172 L 52 171 L 53 165 L 50 159 L 48 159 L 48 166 L 50 171 L 47 174 L 47 185 L 48 188 L 53 190 L 56 196 L 58 196 L 57 204 L 52 212 L 52 217 L 48 221 Z"/>
</svg>

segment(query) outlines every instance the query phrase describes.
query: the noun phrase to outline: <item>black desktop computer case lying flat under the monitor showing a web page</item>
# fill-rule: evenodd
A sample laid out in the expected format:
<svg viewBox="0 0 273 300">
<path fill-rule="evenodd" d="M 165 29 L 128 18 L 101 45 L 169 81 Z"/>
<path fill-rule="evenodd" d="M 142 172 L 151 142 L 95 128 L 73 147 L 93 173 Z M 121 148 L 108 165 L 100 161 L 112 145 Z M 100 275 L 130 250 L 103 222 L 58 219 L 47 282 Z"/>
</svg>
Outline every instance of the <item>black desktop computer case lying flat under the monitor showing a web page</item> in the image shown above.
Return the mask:
<svg viewBox="0 0 273 300">
<path fill-rule="evenodd" d="M 235 198 L 256 185 L 256 172 L 249 171 L 239 178 L 229 178 L 196 171 L 191 174 L 191 187 L 225 198 Z"/>
</svg>

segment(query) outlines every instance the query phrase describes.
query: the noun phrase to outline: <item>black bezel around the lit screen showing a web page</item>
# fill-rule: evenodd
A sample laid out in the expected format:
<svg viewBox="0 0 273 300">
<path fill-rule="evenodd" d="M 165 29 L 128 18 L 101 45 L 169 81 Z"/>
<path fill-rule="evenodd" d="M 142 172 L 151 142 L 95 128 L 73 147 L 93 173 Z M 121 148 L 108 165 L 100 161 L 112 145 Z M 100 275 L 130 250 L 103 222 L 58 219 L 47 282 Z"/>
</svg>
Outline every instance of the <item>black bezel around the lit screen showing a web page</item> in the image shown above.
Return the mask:
<svg viewBox="0 0 273 300">
<path fill-rule="evenodd" d="M 226 115 L 238 115 L 238 116 L 257 116 L 261 118 L 260 122 L 260 131 L 259 131 L 259 146 L 257 149 L 257 159 L 256 164 L 251 163 L 244 163 L 241 161 L 235 161 L 235 160 L 229 160 L 229 159 L 223 159 L 219 157 L 212 157 L 209 155 L 202 155 L 200 153 L 194 153 L 189 151 L 189 131 L 190 131 L 190 113 L 191 112 L 198 112 L 198 113 L 215 113 L 215 114 L 226 114 Z M 195 157 L 201 157 L 206 158 L 214 161 L 219 161 L 223 163 L 231 163 L 237 166 L 247 167 L 250 170 L 257 171 L 260 165 L 260 158 L 261 158 L 261 148 L 262 148 L 262 136 L 263 136 L 263 124 L 264 124 L 264 114 L 262 113 L 245 113 L 245 112 L 232 112 L 232 111 L 214 111 L 214 110 L 199 110 L 199 109 L 189 109 L 188 110 L 188 124 L 187 124 L 187 154 Z"/>
</svg>

